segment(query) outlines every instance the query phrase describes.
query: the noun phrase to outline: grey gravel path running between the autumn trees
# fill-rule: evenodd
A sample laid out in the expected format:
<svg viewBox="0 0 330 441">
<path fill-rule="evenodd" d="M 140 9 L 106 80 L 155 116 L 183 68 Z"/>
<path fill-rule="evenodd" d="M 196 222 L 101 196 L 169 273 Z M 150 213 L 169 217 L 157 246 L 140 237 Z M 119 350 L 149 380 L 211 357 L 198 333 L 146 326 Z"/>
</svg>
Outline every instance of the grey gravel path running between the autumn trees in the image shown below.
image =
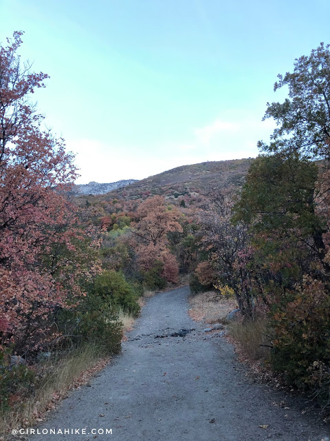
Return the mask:
<svg viewBox="0 0 330 441">
<path fill-rule="evenodd" d="M 39 427 L 44 434 L 30 440 L 327 440 L 327 427 L 298 404 L 245 376 L 221 332 L 206 334 L 189 318 L 188 294 L 184 287 L 148 300 L 120 356 L 63 400 Z M 195 330 L 168 336 L 181 329 Z M 50 429 L 70 433 L 45 434 Z"/>
</svg>

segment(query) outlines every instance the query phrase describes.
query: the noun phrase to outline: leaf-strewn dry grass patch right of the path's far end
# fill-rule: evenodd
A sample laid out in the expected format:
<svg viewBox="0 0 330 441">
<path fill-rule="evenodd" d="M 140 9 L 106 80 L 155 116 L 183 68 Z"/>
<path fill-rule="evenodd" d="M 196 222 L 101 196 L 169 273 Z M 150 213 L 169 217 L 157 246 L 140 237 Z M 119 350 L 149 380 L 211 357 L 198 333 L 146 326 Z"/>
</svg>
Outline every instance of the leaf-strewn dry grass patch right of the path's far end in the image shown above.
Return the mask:
<svg viewBox="0 0 330 441">
<path fill-rule="evenodd" d="M 203 320 L 212 325 L 223 321 L 225 316 L 237 308 L 236 300 L 221 298 L 216 291 L 207 291 L 189 298 L 191 309 L 188 311 L 192 320 Z"/>
</svg>

